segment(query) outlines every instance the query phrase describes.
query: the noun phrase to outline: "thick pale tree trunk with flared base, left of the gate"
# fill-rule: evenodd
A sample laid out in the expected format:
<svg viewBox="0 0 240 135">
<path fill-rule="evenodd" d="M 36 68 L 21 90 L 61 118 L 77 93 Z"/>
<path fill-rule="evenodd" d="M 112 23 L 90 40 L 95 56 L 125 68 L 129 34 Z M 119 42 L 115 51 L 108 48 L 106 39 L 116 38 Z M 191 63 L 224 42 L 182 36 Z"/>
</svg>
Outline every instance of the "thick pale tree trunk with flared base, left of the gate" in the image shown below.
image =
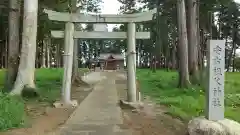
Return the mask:
<svg viewBox="0 0 240 135">
<path fill-rule="evenodd" d="M 24 88 L 35 89 L 34 71 L 37 41 L 38 0 L 24 1 L 22 49 L 20 64 L 12 95 L 20 95 Z"/>
</svg>

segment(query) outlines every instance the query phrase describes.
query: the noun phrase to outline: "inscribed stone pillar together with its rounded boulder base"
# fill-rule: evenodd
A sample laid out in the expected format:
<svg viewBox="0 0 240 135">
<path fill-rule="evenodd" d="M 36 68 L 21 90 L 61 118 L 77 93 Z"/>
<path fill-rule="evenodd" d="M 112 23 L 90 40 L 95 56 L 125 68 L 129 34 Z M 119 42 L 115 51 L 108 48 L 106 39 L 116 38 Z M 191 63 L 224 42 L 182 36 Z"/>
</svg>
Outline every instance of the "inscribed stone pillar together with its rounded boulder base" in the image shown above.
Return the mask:
<svg viewBox="0 0 240 135">
<path fill-rule="evenodd" d="M 240 135 L 240 124 L 224 118 L 225 40 L 210 40 L 207 55 L 206 116 L 188 123 L 189 135 Z"/>
</svg>

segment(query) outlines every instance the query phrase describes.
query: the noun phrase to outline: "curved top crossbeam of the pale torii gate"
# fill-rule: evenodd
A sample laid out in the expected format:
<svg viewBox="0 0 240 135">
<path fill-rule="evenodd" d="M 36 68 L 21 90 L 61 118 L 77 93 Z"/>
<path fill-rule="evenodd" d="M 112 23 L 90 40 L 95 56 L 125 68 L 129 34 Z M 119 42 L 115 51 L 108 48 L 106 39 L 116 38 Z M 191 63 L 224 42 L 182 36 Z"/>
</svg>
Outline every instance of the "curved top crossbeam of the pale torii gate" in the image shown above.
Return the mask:
<svg viewBox="0 0 240 135">
<path fill-rule="evenodd" d="M 135 14 L 100 14 L 91 15 L 84 13 L 67 13 L 56 12 L 45 9 L 44 12 L 48 14 L 50 20 L 62 22 L 75 22 L 75 23 L 128 23 L 128 22 L 145 22 L 152 20 L 153 14 L 156 9 L 148 12 L 135 13 Z"/>
</svg>

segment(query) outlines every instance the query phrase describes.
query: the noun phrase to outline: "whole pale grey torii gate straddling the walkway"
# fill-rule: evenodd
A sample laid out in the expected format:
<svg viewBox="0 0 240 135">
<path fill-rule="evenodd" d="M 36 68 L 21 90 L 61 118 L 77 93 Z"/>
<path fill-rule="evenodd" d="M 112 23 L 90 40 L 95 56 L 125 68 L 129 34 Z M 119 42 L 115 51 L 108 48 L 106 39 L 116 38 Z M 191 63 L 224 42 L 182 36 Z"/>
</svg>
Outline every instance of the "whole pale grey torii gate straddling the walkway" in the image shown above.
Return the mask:
<svg viewBox="0 0 240 135">
<path fill-rule="evenodd" d="M 65 31 L 51 31 L 54 38 L 64 37 L 64 75 L 63 75 L 63 102 L 64 104 L 71 104 L 71 75 L 73 64 L 73 46 L 74 38 L 88 38 L 88 39 L 125 39 L 127 38 L 127 95 L 129 102 L 136 102 L 136 39 L 150 38 L 150 32 L 136 32 L 136 22 L 150 21 L 156 9 L 148 12 L 135 14 L 101 14 L 90 15 L 83 13 L 66 13 L 56 12 L 52 10 L 44 10 L 48 14 L 48 18 L 52 21 L 65 22 Z M 74 31 L 74 23 L 127 23 L 127 32 L 81 32 Z"/>
</svg>

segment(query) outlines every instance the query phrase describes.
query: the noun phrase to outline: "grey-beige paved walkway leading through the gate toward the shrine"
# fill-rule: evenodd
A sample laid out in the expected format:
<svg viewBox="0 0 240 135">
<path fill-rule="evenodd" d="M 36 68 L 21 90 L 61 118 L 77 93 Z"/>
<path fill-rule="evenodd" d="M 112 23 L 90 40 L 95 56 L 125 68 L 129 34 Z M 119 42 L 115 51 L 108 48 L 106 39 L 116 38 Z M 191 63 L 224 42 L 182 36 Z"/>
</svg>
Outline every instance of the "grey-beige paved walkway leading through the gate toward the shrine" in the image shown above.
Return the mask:
<svg viewBox="0 0 240 135">
<path fill-rule="evenodd" d="M 61 128 L 61 135 L 130 135 L 123 124 L 115 85 L 115 73 L 100 73 L 105 79 L 79 105 Z"/>
</svg>

